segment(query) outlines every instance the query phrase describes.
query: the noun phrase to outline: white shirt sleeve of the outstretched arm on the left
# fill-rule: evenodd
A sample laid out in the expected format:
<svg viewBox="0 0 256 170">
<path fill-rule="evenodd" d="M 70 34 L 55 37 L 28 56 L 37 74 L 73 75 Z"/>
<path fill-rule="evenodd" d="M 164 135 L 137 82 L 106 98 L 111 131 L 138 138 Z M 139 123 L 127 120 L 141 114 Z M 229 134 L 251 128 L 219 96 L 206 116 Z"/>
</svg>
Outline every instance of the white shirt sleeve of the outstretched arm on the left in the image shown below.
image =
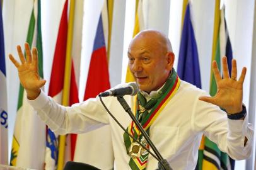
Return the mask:
<svg viewBox="0 0 256 170">
<path fill-rule="evenodd" d="M 107 112 L 98 98 L 65 107 L 55 103 L 54 99 L 41 91 L 36 99 L 28 99 L 28 103 L 45 124 L 60 135 L 89 132 L 108 124 Z"/>
</svg>

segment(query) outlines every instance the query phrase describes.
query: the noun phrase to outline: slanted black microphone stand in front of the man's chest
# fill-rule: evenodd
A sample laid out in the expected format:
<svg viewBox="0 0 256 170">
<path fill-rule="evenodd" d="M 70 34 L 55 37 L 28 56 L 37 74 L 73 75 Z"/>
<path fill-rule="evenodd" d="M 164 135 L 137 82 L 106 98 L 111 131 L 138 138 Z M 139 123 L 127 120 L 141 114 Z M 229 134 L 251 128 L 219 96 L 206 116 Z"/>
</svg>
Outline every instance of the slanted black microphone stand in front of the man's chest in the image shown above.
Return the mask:
<svg viewBox="0 0 256 170">
<path fill-rule="evenodd" d="M 159 170 L 172 170 L 172 167 L 170 167 L 170 165 L 168 164 L 168 162 L 166 161 L 166 159 L 163 159 L 163 157 L 161 156 L 160 152 L 158 151 L 158 149 L 156 149 L 156 147 L 154 146 L 153 142 L 151 141 L 151 139 L 149 138 L 148 133 L 145 132 L 144 128 L 141 126 L 141 123 L 139 123 L 136 119 L 136 117 L 133 115 L 132 110 L 130 108 L 130 106 L 127 104 L 127 102 L 125 101 L 123 96 L 117 96 L 117 100 L 119 101 L 120 105 L 122 105 L 122 107 L 124 108 L 124 110 L 129 114 L 129 116 L 132 118 L 132 120 L 134 121 L 134 123 L 137 125 L 137 127 L 139 128 L 139 131 L 141 131 L 143 137 L 146 139 L 146 141 L 148 142 L 149 146 L 152 148 L 152 150 L 154 151 L 154 153 L 156 154 L 156 156 L 158 157 L 158 159 L 160 159 L 160 162 L 158 162 L 158 168 Z"/>
</svg>

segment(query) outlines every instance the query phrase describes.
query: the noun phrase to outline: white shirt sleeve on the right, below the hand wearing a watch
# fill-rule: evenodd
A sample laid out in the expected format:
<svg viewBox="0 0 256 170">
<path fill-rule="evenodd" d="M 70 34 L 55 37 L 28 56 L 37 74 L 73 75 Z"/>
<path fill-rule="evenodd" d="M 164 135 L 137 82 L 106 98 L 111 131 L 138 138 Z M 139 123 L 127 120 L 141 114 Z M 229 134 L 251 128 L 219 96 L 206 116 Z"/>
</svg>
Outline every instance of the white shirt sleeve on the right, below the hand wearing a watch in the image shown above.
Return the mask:
<svg viewBox="0 0 256 170">
<path fill-rule="evenodd" d="M 244 120 L 230 120 L 226 112 L 218 106 L 197 99 L 192 111 L 192 128 L 203 132 L 221 151 L 228 153 L 233 159 L 250 157 L 253 127 L 248 123 L 248 116 Z M 246 145 L 245 137 L 248 140 Z"/>
</svg>

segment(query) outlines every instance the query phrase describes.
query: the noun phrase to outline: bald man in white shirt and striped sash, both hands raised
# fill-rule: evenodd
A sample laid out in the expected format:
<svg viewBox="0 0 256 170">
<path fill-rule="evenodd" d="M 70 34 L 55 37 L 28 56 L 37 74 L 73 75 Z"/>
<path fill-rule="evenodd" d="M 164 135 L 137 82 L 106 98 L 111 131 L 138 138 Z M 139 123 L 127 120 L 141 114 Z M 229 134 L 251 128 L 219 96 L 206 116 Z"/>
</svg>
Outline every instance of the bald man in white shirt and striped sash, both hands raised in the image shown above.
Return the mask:
<svg viewBox="0 0 256 170">
<path fill-rule="evenodd" d="M 107 114 L 98 97 L 64 107 L 46 96 L 40 90 L 45 80 L 40 80 L 38 76 L 36 48 L 32 49 L 31 54 L 28 44 L 25 44 L 26 59 L 20 46 L 17 50 L 21 64 L 13 55 L 9 55 L 9 58 L 18 69 L 28 100 L 38 116 L 55 133 L 84 133 L 110 124 L 115 169 L 158 168 L 158 161 L 124 133 Z M 173 69 L 175 55 L 172 45 L 160 31 L 146 30 L 136 35 L 129 45 L 128 57 L 139 93 L 124 98 L 173 169 L 195 168 L 202 134 L 216 142 L 219 149 L 233 159 L 250 156 L 253 128 L 248 123 L 247 111 L 242 103 L 246 68 L 236 80 L 236 60 L 232 61 L 230 76 L 224 57 L 222 78 L 216 62 L 212 62 L 218 93 L 209 97 L 205 91 L 179 79 Z M 117 99 L 107 97 L 103 101 L 122 126 L 149 147 Z"/>
</svg>

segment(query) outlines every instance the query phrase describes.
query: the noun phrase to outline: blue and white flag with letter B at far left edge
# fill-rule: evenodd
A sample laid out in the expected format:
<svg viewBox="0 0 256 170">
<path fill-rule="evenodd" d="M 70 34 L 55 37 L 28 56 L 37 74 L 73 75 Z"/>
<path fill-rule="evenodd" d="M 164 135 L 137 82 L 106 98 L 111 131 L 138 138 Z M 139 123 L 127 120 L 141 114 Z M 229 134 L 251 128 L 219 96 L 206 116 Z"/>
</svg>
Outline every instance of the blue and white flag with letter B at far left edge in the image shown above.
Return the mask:
<svg viewBox="0 0 256 170">
<path fill-rule="evenodd" d="M 0 4 L 0 164 L 8 164 L 8 112 L 6 67 L 4 54 L 4 29 L 2 7 Z"/>
</svg>

